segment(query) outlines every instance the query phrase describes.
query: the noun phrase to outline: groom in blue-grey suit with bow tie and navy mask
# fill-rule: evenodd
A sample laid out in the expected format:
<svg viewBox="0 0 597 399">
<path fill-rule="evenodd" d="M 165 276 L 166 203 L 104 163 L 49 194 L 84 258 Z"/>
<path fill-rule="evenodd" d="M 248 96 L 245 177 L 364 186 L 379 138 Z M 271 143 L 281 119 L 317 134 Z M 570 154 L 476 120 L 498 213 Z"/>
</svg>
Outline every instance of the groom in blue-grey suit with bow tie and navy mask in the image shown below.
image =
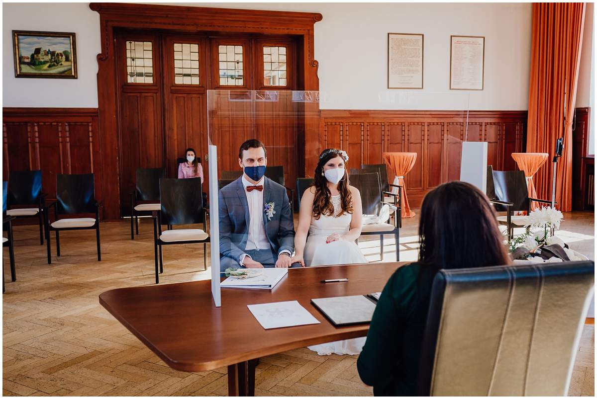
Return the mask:
<svg viewBox="0 0 597 399">
<path fill-rule="evenodd" d="M 291 265 L 294 222 L 286 188 L 264 176 L 267 151 L 259 140 L 242 143 L 243 174 L 219 192 L 220 271 Z"/>
</svg>

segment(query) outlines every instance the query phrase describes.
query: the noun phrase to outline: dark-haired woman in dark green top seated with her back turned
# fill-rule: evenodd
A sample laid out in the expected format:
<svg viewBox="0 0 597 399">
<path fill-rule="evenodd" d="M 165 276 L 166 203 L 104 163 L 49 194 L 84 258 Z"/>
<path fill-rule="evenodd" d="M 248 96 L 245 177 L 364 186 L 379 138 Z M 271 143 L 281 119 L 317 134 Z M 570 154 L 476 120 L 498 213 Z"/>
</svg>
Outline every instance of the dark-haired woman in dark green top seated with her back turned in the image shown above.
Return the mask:
<svg viewBox="0 0 597 399">
<path fill-rule="evenodd" d="M 375 395 L 417 394 L 418 362 L 433 277 L 440 269 L 510 264 L 487 196 L 454 181 L 430 191 L 421 206 L 418 262 L 390 277 L 377 301 L 359 376 Z"/>
</svg>

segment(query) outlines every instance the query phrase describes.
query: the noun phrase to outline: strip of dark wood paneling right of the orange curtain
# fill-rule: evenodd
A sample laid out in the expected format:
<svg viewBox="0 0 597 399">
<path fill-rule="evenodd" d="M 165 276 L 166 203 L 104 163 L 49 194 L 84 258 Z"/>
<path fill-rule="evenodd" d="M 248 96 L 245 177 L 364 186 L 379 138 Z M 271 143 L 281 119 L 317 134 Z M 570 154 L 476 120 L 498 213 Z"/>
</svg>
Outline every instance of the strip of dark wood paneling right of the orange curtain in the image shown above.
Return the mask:
<svg viewBox="0 0 597 399">
<path fill-rule="evenodd" d="M 572 206 L 574 211 L 594 209 L 589 203 L 589 178 L 595 168 L 595 155 L 588 156 L 589 150 L 590 108 L 577 108 L 572 125 Z M 594 184 L 594 183 L 593 183 Z"/>
</svg>

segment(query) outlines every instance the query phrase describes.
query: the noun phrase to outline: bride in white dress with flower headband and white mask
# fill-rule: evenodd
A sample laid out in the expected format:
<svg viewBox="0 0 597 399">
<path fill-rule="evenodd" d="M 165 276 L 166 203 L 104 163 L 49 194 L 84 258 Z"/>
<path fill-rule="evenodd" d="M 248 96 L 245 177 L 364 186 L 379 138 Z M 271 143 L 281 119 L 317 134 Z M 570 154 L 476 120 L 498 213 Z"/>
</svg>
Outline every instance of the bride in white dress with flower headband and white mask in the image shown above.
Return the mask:
<svg viewBox="0 0 597 399">
<path fill-rule="evenodd" d="M 326 149 L 315 168 L 315 183 L 303 194 L 292 262 L 303 266 L 367 263 L 355 240 L 361 235 L 361 194 L 349 185 L 345 151 Z M 309 233 L 307 236 L 307 232 Z M 356 355 L 366 337 L 309 347 L 320 355 Z"/>
</svg>

